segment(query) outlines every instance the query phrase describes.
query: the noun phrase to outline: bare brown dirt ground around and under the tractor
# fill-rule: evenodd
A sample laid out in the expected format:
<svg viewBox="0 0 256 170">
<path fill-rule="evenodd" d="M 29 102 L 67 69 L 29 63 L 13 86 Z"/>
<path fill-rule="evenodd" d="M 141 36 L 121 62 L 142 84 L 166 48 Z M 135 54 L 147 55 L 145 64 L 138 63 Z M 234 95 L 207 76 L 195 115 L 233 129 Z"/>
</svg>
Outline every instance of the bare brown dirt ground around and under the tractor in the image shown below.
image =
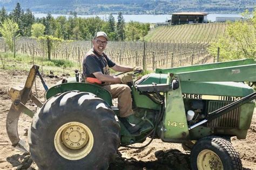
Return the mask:
<svg viewBox="0 0 256 170">
<path fill-rule="evenodd" d="M 11 100 L 8 96 L 9 87 L 15 87 L 25 83 L 28 72 L 0 69 L 0 168 L 1 169 L 37 169 L 30 156 L 23 154 L 11 146 L 5 130 L 6 115 L 8 114 Z M 61 76 L 59 76 L 61 77 Z M 44 77 L 48 86 L 52 86 L 60 78 Z M 36 81 L 37 95 L 44 101 L 44 90 L 39 79 Z M 35 89 L 33 89 L 35 91 Z M 28 104 L 33 110 L 35 105 Z M 29 128 L 31 118 L 22 114 L 19 119 L 19 135 L 26 140 L 26 129 Z M 254 110 L 251 129 L 246 140 L 232 138 L 232 144 L 240 153 L 244 169 L 256 169 L 255 157 L 256 111 Z M 145 143 L 149 141 L 147 139 Z M 140 146 L 142 144 L 137 144 Z M 180 144 L 162 143 L 161 140 L 153 140 L 152 144 L 143 149 L 119 148 L 116 161 L 109 169 L 190 169 L 190 153 L 184 151 Z"/>
</svg>

